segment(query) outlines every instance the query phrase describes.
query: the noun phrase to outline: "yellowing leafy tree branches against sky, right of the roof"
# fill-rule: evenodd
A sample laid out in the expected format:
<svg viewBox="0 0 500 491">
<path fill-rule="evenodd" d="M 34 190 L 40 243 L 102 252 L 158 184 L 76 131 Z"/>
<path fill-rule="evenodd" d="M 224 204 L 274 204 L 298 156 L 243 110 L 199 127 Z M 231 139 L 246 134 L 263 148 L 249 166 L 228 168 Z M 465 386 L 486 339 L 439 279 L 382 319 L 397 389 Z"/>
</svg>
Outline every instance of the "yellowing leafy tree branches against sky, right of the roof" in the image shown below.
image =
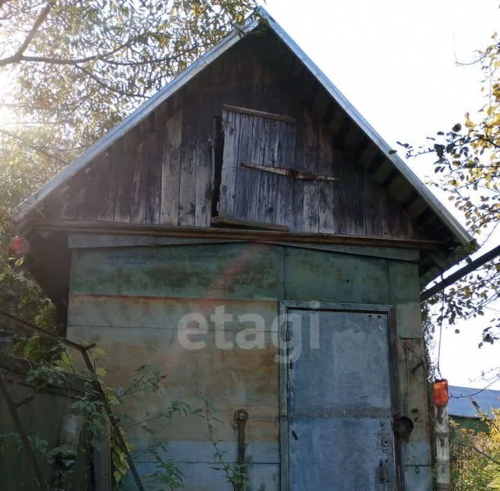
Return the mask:
<svg viewBox="0 0 500 491">
<path fill-rule="evenodd" d="M 476 64 L 484 75 L 482 91 L 485 104 L 474 116 L 465 114 L 463 124 L 456 123 L 447 131 L 429 137 L 430 145 L 414 148 L 405 143 L 407 157 L 434 154 L 435 187 L 450 194 L 457 212 L 465 217 L 472 236 L 490 246 L 498 245 L 500 223 L 500 42 L 492 36 L 492 44 L 478 52 Z M 472 252 L 472 248 L 471 251 Z M 467 259 L 470 261 L 470 259 Z M 483 343 L 493 343 L 500 335 L 500 316 L 488 314 L 488 307 L 500 297 L 500 259 L 489 261 L 475 272 L 456 282 L 445 292 L 444 308 L 438 322 L 484 316 Z M 437 295 L 432 302 L 437 303 Z"/>
</svg>

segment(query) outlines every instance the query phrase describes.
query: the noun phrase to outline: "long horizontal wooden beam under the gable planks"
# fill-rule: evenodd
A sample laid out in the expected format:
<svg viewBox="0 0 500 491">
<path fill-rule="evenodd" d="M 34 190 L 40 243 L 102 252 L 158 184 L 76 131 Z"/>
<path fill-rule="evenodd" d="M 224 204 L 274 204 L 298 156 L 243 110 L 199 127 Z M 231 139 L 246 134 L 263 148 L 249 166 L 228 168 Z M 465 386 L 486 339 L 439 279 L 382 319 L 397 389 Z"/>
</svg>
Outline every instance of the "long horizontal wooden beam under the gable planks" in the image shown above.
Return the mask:
<svg viewBox="0 0 500 491">
<path fill-rule="evenodd" d="M 38 232 L 85 232 L 92 234 L 151 235 L 163 237 L 202 237 L 203 239 L 234 239 L 243 241 L 289 241 L 297 243 L 342 243 L 361 246 L 401 247 L 436 250 L 441 241 L 422 239 L 392 239 L 390 237 L 365 237 L 334 234 L 304 234 L 275 230 L 238 230 L 231 228 L 172 227 L 105 221 L 26 221 Z"/>
</svg>

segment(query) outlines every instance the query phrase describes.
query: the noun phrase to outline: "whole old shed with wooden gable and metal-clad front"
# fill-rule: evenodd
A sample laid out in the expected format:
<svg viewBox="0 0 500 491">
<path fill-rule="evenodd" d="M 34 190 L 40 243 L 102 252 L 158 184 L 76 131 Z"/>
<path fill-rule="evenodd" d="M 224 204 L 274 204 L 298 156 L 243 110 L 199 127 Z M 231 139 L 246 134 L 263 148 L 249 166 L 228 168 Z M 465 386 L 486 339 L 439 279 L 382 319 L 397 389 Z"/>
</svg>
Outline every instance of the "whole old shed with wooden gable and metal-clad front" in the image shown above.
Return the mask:
<svg viewBox="0 0 500 491">
<path fill-rule="evenodd" d="M 253 490 L 431 490 L 420 290 L 471 239 L 389 150 L 259 9 L 12 218 L 108 382 L 166 374 L 131 416 L 207 398 Z M 151 425 L 231 489 L 203 418 Z"/>
</svg>

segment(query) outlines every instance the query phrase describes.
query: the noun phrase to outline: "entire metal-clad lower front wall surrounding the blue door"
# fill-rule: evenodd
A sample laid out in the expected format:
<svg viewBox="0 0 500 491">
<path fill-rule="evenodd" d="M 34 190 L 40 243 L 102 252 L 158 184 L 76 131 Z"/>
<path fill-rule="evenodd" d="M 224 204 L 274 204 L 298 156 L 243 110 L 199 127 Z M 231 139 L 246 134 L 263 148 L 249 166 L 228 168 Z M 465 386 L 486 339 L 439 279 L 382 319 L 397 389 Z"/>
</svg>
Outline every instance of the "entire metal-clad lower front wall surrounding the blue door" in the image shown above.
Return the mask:
<svg viewBox="0 0 500 491">
<path fill-rule="evenodd" d="M 221 411 L 215 431 L 226 442 L 221 448 L 228 461 L 236 461 L 237 452 L 232 416 L 237 409 L 248 410 L 252 485 L 277 490 L 279 382 L 269 331 L 278 300 L 396 304 L 400 337 L 414 336 L 400 339 L 398 347 L 402 407 L 416 425 L 403 445 L 402 464 L 411 482 L 420 479 L 421 489 L 427 490 L 429 473 L 417 472 L 428 464 L 429 454 L 425 387 L 405 372 L 405 346 L 417 353 L 423 347 L 417 295 L 416 263 L 380 257 L 250 243 L 80 249 L 73 251 L 68 337 L 107 349 L 102 364 L 110 369 L 109 385 L 124 385 L 144 363 L 156 364 L 167 375 L 158 393 L 127 403 L 138 418 L 145 411 L 161 411 L 172 400 L 186 400 L 195 409 L 201 407 L 199 396 L 210 398 Z M 210 315 L 221 305 L 227 314 L 263 315 L 266 348 L 218 349 Z M 178 320 L 189 312 L 208 317 L 207 335 L 193 336 L 207 344 L 200 351 L 187 351 L 178 342 Z M 228 324 L 226 340 L 234 341 L 245 327 L 236 320 Z M 160 422 L 154 437 L 167 441 L 165 457 L 180 462 L 186 489 L 230 489 L 221 472 L 208 470 L 214 452 L 201 418 Z M 145 432 L 131 430 L 130 435 L 138 448 L 151 443 Z M 151 471 L 147 456 L 138 465 L 140 472 Z"/>
</svg>

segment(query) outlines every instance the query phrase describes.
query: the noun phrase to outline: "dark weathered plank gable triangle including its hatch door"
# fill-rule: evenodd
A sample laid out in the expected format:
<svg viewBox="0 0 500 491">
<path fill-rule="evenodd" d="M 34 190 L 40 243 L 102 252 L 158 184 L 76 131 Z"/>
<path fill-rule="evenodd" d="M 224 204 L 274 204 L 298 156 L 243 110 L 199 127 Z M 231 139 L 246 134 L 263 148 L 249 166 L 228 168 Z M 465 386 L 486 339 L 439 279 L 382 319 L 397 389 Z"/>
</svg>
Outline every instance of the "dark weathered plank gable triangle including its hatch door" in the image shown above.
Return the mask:
<svg viewBox="0 0 500 491">
<path fill-rule="evenodd" d="M 324 106 L 317 82 L 275 35 L 248 35 L 73 176 L 42 213 L 195 227 L 224 216 L 292 232 L 413 238 L 409 213 L 361 165 L 365 142 Z"/>
</svg>

